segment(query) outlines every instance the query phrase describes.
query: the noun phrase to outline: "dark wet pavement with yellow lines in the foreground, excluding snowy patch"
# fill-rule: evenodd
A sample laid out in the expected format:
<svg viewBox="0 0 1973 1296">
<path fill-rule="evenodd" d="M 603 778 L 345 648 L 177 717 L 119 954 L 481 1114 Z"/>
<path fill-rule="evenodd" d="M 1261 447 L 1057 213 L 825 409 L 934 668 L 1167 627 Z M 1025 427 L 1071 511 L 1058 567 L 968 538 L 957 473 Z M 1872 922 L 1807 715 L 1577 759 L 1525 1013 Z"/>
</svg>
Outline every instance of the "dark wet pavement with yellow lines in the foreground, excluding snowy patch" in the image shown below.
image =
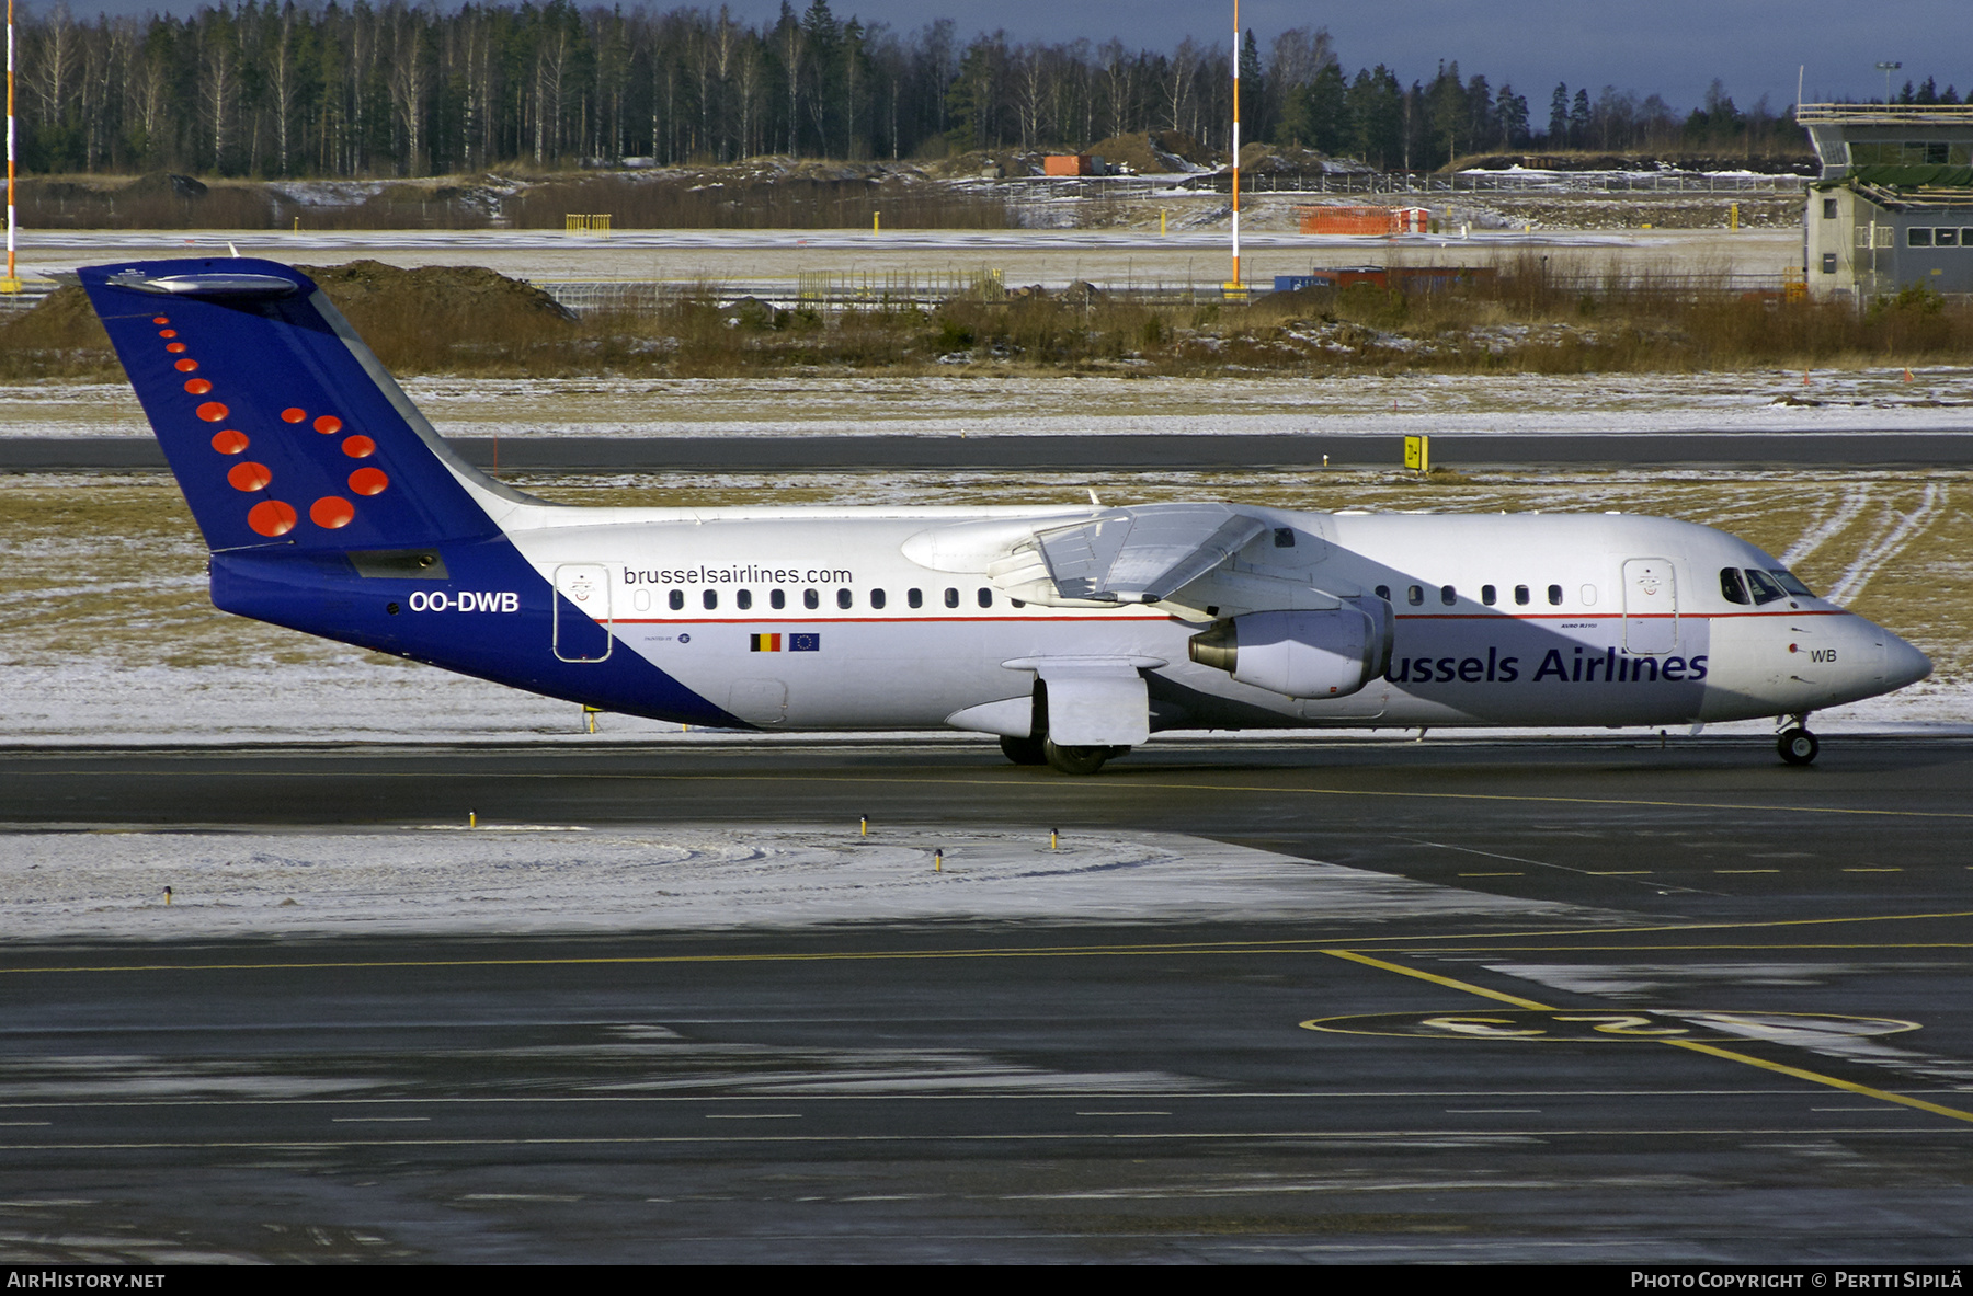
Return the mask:
<svg viewBox="0 0 1973 1296">
<path fill-rule="evenodd" d="M 1959 740 L 1160 742 L 1095 779 L 953 744 L 0 750 L 12 832 L 162 858 L 468 807 L 868 815 L 1511 901 L 16 941 L 0 1251 L 1959 1260 L 1969 785 Z"/>
</svg>

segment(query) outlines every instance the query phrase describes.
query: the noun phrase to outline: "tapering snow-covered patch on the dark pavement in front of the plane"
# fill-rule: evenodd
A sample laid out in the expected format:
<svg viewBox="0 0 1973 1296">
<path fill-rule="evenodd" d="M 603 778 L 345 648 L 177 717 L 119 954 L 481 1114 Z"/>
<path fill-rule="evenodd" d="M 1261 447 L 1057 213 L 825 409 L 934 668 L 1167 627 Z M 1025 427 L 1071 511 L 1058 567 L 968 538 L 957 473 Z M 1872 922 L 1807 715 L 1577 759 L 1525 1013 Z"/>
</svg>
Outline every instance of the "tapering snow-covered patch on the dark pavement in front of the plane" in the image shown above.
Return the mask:
<svg viewBox="0 0 1973 1296">
<path fill-rule="evenodd" d="M 1375 921 L 1614 913 L 1411 882 L 1162 832 L 831 827 L 20 832 L 0 931 L 211 939 L 848 921 Z M 943 854 L 933 870 L 933 850 Z M 166 903 L 164 888 L 172 888 Z"/>
</svg>

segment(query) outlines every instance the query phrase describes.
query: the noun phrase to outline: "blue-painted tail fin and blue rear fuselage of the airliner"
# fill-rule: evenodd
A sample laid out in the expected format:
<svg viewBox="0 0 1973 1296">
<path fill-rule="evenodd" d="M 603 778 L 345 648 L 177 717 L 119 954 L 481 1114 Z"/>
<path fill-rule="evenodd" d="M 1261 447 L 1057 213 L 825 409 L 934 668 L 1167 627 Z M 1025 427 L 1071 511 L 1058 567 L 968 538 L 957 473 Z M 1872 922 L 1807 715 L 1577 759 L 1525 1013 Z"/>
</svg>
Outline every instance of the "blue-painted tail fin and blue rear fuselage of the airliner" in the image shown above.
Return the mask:
<svg viewBox="0 0 1973 1296">
<path fill-rule="evenodd" d="M 740 726 L 637 653 L 556 657 L 556 617 L 594 619 L 404 420 L 306 274 L 225 258 L 81 278 L 213 550 L 217 608 L 614 712 Z M 359 574 L 351 558 L 410 548 L 444 576 Z"/>
</svg>

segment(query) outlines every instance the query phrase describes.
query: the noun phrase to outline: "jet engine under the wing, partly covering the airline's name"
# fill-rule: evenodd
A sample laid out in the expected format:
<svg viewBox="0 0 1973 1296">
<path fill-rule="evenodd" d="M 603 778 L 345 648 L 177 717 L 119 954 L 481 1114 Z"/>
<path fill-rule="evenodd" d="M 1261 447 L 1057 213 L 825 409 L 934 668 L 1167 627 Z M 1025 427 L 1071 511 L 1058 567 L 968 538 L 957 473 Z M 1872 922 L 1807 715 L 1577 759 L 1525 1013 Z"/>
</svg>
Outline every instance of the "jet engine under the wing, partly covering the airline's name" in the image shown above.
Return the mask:
<svg viewBox="0 0 1973 1296">
<path fill-rule="evenodd" d="M 1194 635 L 1192 661 L 1290 698 L 1340 698 L 1391 667 L 1391 604 L 1328 612 L 1249 612 Z"/>
</svg>

